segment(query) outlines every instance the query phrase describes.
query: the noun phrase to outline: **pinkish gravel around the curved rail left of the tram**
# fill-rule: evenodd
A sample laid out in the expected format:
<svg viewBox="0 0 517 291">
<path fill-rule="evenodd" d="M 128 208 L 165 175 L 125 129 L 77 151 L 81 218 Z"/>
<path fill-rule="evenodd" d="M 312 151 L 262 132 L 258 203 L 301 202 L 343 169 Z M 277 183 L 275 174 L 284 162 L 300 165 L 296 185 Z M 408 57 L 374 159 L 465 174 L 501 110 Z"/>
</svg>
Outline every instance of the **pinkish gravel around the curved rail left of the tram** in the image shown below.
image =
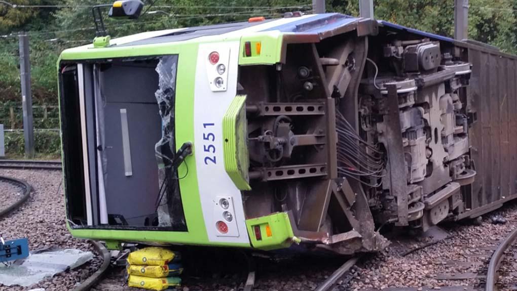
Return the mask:
<svg viewBox="0 0 517 291">
<path fill-rule="evenodd" d="M 30 250 L 56 246 L 61 249 L 92 251 L 95 254 L 92 244 L 73 238 L 66 229 L 63 187 L 57 191 L 62 180 L 60 171 L 1 169 L 0 175 L 25 180 L 33 187 L 31 197 L 20 208 L 0 218 L 0 230 L 6 239 L 27 237 Z M 4 184 L 0 185 L 2 187 L 0 194 L 8 196 L 6 192 L 10 189 L 4 186 Z M 88 278 L 101 263 L 102 258 L 96 256 L 94 260 L 78 269 L 56 274 L 53 278 L 38 284 L 29 287 L 0 285 L 0 291 L 34 288 L 44 288 L 45 291 L 70 290 L 74 285 Z"/>
</svg>

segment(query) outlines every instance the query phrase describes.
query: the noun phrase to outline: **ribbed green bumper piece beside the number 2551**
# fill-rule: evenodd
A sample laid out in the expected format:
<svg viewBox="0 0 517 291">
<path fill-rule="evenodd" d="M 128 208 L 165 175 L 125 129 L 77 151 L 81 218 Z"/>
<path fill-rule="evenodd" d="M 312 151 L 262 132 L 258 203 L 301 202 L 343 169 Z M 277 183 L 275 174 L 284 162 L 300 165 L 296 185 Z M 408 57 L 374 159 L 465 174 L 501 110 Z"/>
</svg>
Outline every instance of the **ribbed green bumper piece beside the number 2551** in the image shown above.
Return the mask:
<svg viewBox="0 0 517 291">
<path fill-rule="evenodd" d="M 240 190 L 251 190 L 248 169 L 246 95 L 237 95 L 223 117 L 224 169 Z"/>
</svg>

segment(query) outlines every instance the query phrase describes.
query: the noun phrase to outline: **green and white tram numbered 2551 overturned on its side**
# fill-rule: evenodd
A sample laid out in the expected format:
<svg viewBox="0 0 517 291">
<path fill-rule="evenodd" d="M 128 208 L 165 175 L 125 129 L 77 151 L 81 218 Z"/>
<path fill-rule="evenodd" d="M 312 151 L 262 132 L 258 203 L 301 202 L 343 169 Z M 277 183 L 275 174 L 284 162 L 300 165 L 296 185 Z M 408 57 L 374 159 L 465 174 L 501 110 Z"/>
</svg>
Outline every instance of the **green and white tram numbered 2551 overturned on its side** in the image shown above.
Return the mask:
<svg viewBox="0 0 517 291">
<path fill-rule="evenodd" d="M 517 198 L 517 58 L 338 13 L 58 61 L 75 237 L 349 254 Z M 513 113 L 512 113 L 513 112 Z"/>
</svg>

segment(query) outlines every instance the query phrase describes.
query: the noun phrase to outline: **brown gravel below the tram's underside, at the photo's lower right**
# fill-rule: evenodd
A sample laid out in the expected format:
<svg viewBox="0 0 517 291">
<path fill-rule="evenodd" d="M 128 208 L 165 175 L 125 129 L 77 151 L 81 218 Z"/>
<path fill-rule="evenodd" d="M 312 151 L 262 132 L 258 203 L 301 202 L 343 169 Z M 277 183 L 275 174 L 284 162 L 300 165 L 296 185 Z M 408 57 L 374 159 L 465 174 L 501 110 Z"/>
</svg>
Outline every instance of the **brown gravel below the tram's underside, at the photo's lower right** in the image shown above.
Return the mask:
<svg viewBox="0 0 517 291">
<path fill-rule="evenodd" d="M 508 223 L 493 224 L 494 215 L 507 219 Z M 392 246 L 383 252 L 372 255 L 368 260 L 363 260 L 355 266 L 353 279 L 347 287 L 354 291 L 424 286 L 435 289 L 444 286 L 470 286 L 481 290 L 484 288 L 490 256 L 499 241 L 515 227 L 515 222 L 517 205 L 512 204 L 494 214 L 486 215 L 480 225 L 468 222 L 444 224 L 442 228 L 451 234 L 450 238 L 407 256 L 401 254 L 418 247 L 418 242 L 414 239 L 395 240 Z M 477 277 L 440 280 L 444 276 L 450 278 L 451 274 L 458 277 L 465 273 L 473 273 Z M 515 273 L 511 276 L 515 276 Z"/>
</svg>

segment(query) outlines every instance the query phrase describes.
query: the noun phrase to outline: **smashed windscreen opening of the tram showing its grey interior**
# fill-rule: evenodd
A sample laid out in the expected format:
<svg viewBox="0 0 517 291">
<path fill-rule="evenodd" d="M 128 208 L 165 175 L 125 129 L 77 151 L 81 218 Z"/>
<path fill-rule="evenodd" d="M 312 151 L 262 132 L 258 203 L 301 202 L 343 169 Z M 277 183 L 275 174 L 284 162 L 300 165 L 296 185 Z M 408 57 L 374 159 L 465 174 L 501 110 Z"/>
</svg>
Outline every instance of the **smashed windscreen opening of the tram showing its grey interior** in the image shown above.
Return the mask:
<svg viewBox="0 0 517 291">
<path fill-rule="evenodd" d="M 72 227 L 187 230 L 172 167 L 177 60 L 170 55 L 78 66 L 84 101 L 77 116 L 85 126 L 76 138 L 88 150 L 64 154 L 87 160 L 89 187 L 86 219 Z"/>
</svg>

